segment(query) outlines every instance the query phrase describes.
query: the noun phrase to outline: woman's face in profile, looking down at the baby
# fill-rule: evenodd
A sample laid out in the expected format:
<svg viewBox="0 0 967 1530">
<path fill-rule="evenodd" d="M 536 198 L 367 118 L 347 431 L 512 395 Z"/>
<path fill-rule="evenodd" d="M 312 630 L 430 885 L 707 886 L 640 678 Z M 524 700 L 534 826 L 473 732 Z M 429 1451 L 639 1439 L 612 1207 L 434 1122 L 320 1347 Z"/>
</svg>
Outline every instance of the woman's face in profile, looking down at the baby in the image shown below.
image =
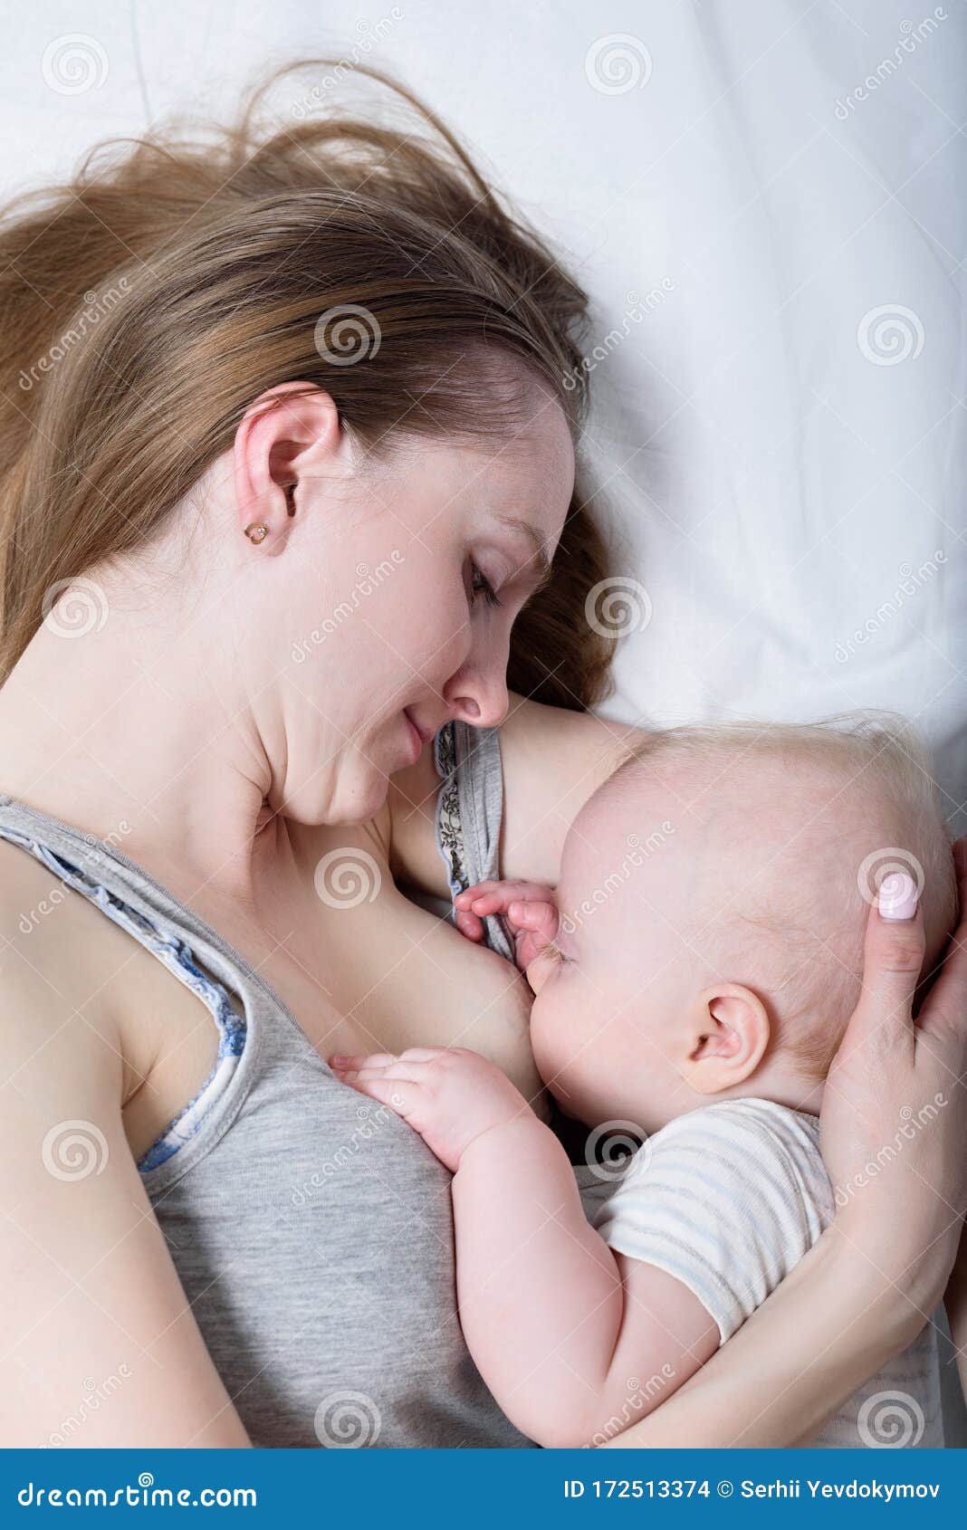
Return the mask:
<svg viewBox="0 0 967 1530">
<path fill-rule="evenodd" d="M 291 817 L 370 817 L 387 777 L 447 719 L 502 721 L 511 627 L 546 574 L 572 483 L 565 416 L 537 392 L 503 444 L 421 439 L 363 474 L 306 477 L 278 558 L 298 578 L 278 783 Z"/>
</svg>

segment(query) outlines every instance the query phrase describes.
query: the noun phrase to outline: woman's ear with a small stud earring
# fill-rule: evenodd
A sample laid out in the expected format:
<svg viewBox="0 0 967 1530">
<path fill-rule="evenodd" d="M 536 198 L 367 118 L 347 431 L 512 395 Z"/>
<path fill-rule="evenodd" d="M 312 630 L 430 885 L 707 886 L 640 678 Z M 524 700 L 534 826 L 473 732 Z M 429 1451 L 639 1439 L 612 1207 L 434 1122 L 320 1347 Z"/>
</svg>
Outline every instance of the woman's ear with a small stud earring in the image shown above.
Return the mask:
<svg viewBox="0 0 967 1530">
<path fill-rule="evenodd" d="M 300 479 L 335 476 L 343 448 L 338 410 L 314 382 L 280 382 L 246 409 L 234 442 L 236 516 L 254 546 L 282 552 L 304 506 Z"/>
</svg>

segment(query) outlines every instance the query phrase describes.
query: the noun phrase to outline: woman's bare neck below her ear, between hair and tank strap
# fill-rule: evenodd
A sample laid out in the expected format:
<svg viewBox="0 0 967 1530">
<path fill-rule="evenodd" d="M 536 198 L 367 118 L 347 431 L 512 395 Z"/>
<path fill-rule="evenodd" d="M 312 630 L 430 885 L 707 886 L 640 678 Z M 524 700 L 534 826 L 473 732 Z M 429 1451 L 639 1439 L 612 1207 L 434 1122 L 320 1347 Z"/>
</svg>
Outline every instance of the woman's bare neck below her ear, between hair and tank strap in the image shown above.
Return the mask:
<svg viewBox="0 0 967 1530">
<path fill-rule="evenodd" d="M 133 600 L 104 578 L 87 594 L 93 617 L 73 632 L 49 618 L 0 690 L 0 791 L 109 840 L 177 897 L 252 906 L 269 767 L 222 623 L 207 624 L 203 594 L 194 615 L 184 591 Z"/>
</svg>

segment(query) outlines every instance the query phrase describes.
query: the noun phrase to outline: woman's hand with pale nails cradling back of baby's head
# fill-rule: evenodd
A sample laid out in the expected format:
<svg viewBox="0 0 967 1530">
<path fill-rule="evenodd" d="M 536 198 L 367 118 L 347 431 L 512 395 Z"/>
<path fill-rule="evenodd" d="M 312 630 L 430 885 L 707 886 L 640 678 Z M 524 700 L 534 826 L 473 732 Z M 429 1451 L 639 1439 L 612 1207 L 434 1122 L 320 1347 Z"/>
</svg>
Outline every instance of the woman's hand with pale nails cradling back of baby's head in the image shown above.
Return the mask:
<svg viewBox="0 0 967 1530">
<path fill-rule="evenodd" d="M 965 910 L 967 840 L 955 860 Z M 863 993 L 823 1094 L 822 1149 L 832 1232 L 884 1293 L 904 1297 L 912 1337 L 943 1297 L 967 1209 L 967 921 L 913 1021 L 923 916 L 887 915 L 871 909 Z"/>
</svg>

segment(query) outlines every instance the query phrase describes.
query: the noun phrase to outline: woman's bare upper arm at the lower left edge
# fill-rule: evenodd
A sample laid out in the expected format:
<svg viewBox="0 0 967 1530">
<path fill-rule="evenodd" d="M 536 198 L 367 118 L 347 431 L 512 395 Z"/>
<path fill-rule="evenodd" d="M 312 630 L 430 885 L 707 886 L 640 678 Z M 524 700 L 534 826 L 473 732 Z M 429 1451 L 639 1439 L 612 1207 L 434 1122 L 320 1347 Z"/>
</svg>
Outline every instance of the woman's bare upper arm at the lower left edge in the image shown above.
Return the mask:
<svg viewBox="0 0 967 1530">
<path fill-rule="evenodd" d="M 52 994 L 0 976 L 0 1446 L 248 1446 L 127 1144 L 118 1037 Z"/>
</svg>

